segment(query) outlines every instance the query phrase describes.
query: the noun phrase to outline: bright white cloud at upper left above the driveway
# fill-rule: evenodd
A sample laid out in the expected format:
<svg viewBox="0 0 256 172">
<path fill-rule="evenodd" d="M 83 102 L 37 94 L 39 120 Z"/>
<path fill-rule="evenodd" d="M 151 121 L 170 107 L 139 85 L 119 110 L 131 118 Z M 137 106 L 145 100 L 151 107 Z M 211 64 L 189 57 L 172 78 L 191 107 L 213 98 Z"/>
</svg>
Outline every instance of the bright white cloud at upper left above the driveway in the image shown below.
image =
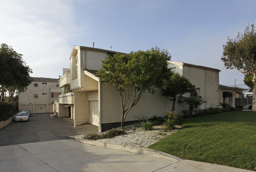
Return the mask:
<svg viewBox="0 0 256 172">
<path fill-rule="evenodd" d="M 68 1 L 1 2 L 0 41 L 23 54 L 32 76 L 58 78 L 69 68 L 70 40 L 77 37 L 74 14 Z"/>
</svg>

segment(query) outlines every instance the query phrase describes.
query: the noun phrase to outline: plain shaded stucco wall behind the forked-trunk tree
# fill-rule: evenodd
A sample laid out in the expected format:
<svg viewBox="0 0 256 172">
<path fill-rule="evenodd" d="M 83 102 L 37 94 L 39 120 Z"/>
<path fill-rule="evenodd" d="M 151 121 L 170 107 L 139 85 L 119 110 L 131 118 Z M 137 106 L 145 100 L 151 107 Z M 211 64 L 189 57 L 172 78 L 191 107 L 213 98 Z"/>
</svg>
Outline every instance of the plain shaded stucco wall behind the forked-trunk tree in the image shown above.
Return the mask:
<svg viewBox="0 0 256 172">
<path fill-rule="evenodd" d="M 113 86 L 105 87 L 104 84 L 101 84 L 100 88 L 102 123 L 121 122 L 122 107 L 119 93 Z M 166 110 L 171 110 L 171 104 L 161 95 L 160 90 L 157 90 L 155 94 L 145 92 L 138 104 L 128 112 L 125 121 L 138 120 L 142 116 L 147 118 L 152 118 L 154 115 L 163 117 Z"/>
</svg>

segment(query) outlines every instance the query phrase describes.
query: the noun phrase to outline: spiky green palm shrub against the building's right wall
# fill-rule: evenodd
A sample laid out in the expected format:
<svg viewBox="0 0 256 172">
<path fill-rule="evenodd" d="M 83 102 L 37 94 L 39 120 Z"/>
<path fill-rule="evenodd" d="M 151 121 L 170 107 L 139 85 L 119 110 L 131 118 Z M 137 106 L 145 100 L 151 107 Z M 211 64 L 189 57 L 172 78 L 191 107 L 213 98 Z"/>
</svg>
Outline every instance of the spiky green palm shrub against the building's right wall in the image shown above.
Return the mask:
<svg viewBox="0 0 256 172">
<path fill-rule="evenodd" d="M 203 98 L 198 97 L 182 97 L 185 104 L 189 105 L 189 115 L 193 114 L 195 109 L 195 114 L 197 114 L 197 109 L 200 109 L 202 104 L 207 103 Z"/>
</svg>

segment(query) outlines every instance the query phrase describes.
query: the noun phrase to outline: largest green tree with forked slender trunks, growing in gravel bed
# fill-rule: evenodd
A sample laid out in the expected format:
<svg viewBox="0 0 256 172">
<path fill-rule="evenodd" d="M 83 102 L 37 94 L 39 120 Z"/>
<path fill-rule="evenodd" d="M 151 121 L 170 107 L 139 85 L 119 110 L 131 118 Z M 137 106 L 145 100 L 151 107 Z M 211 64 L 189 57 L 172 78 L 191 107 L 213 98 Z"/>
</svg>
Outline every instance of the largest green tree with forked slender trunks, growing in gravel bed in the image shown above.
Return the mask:
<svg viewBox="0 0 256 172">
<path fill-rule="evenodd" d="M 114 85 L 120 95 L 121 127 L 129 110 L 137 105 L 142 94 L 146 91 L 154 94 L 168 71 L 166 57 L 154 49 L 130 54 L 116 53 L 102 61 L 102 68 L 96 76 L 100 82 Z M 131 103 L 128 104 L 128 100 Z"/>
</svg>

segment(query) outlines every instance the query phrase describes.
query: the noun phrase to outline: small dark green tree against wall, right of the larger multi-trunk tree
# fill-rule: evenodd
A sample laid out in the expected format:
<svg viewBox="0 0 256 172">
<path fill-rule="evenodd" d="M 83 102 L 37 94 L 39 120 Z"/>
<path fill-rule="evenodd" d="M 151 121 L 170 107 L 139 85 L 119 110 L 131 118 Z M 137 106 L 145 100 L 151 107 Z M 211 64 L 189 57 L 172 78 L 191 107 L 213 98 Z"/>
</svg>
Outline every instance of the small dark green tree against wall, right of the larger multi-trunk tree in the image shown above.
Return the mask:
<svg viewBox="0 0 256 172">
<path fill-rule="evenodd" d="M 173 102 L 172 111 L 175 110 L 175 102 L 183 94 L 191 92 L 195 85 L 185 77 L 178 73 L 170 74 L 171 77 L 163 80 L 162 94 Z"/>
</svg>

